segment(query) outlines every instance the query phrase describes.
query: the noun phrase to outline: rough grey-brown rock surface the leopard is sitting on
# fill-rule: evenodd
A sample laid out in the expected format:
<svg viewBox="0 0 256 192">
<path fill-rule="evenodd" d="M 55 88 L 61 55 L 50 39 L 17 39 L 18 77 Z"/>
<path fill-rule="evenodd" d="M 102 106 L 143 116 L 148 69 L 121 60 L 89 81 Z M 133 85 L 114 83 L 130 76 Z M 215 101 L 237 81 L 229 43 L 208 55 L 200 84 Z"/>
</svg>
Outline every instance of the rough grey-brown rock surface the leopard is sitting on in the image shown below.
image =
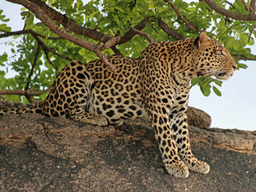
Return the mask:
<svg viewBox="0 0 256 192">
<path fill-rule="evenodd" d="M 1 105 L 0 105 L 1 107 Z M 168 176 L 150 124 L 0 117 L 0 191 L 256 191 L 256 132 L 190 126 L 206 176 Z"/>
</svg>

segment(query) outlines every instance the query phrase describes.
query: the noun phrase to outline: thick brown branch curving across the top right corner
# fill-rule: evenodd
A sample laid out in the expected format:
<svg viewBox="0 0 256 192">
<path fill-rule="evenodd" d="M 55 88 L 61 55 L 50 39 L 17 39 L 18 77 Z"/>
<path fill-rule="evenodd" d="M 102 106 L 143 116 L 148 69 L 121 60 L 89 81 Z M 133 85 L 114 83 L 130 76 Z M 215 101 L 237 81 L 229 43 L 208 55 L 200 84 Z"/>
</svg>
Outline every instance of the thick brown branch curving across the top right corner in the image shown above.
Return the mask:
<svg viewBox="0 0 256 192">
<path fill-rule="evenodd" d="M 225 8 L 218 6 L 214 0 L 202 0 L 202 1 L 206 2 L 209 7 L 211 7 L 213 10 L 215 10 L 216 12 L 220 13 L 223 16 L 227 16 L 232 19 L 241 20 L 241 21 L 256 21 L 255 14 L 244 15 L 244 14 L 241 14 L 238 12 L 230 12 L 230 11 L 226 10 Z M 255 3 L 255 1 L 254 1 L 254 3 Z M 254 7 L 255 7 L 255 5 L 254 5 Z"/>
</svg>

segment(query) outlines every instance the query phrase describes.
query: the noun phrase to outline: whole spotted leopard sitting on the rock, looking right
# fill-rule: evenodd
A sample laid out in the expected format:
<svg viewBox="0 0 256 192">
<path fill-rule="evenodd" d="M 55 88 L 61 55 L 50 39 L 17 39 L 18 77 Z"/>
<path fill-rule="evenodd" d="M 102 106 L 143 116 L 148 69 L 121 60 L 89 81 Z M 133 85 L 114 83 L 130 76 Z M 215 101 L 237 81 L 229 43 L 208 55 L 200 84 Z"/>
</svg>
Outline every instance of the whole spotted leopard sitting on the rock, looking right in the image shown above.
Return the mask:
<svg viewBox="0 0 256 192">
<path fill-rule="evenodd" d="M 229 79 L 238 68 L 230 52 L 201 32 L 197 38 L 149 44 L 137 58 L 73 60 L 55 78 L 45 101 L 0 110 L 0 115 L 40 113 L 84 124 L 107 126 L 123 119 L 147 118 L 152 124 L 169 175 L 207 174 L 210 166 L 192 153 L 187 124 L 190 82 L 195 77 Z"/>
</svg>

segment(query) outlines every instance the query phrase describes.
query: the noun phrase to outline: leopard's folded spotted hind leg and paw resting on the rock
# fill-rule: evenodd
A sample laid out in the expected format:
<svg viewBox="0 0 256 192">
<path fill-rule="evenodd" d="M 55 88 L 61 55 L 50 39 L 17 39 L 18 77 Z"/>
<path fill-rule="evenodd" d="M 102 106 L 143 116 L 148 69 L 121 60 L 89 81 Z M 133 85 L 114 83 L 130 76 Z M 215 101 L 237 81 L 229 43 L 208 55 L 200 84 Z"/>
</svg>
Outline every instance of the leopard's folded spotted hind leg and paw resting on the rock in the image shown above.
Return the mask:
<svg viewBox="0 0 256 192">
<path fill-rule="evenodd" d="M 93 79 L 82 63 L 69 63 L 55 79 L 44 101 L 45 115 L 65 115 L 86 124 L 107 125 L 104 116 L 85 111 L 91 96 L 92 84 Z"/>
</svg>

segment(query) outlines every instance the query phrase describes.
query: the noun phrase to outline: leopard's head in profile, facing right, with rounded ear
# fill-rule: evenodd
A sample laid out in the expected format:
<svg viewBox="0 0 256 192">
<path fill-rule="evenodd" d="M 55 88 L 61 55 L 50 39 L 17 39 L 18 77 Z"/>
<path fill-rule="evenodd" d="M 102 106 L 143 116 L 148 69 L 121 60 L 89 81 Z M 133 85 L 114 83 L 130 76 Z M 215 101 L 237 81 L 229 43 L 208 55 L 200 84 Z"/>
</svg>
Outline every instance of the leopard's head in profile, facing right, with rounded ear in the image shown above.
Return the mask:
<svg viewBox="0 0 256 192">
<path fill-rule="evenodd" d="M 216 76 L 222 80 L 227 80 L 233 75 L 237 64 L 230 52 L 218 41 L 209 40 L 206 33 L 202 32 L 194 40 L 193 46 L 197 63 L 194 72 L 197 73 L 197 77 Z"/>
</svg>

